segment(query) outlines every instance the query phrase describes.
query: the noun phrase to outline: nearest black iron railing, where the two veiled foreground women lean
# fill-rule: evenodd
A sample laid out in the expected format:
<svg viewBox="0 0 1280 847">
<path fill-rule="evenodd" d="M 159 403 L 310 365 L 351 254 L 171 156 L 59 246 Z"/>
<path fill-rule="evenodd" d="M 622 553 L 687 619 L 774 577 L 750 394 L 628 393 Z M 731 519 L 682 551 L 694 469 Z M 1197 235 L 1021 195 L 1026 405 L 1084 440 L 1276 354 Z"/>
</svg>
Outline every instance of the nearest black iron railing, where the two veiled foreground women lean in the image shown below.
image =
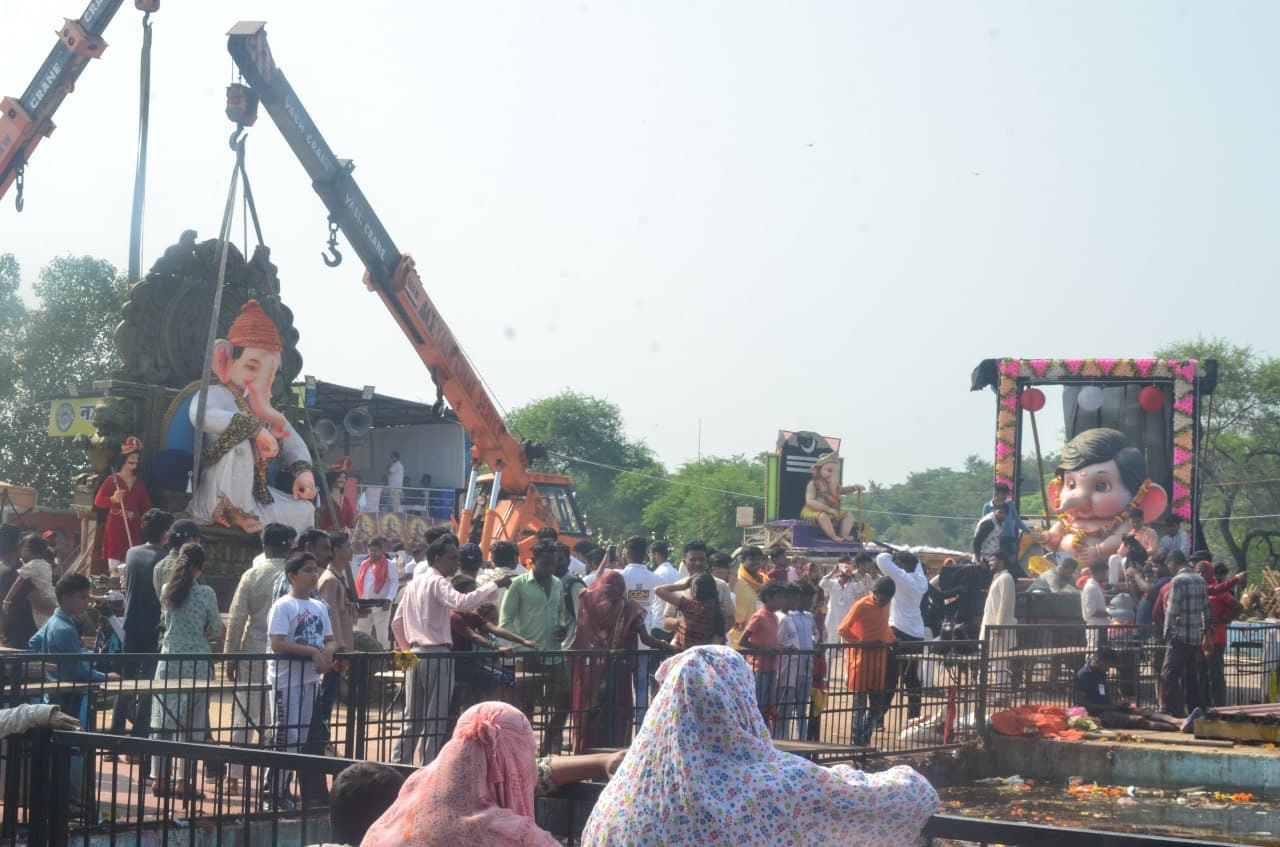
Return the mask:
<svg viewBox="0 0 1280 847">
<path fill-rule="evenodd" d="M 278 847 L 310 844 L 330 838 L 325 802 L 297 809 L 264 805 L 262 792 L 233 795 L 215 789 L 184 797 L 148 797 L 114 764 L 124 756 L 165 756 L 200 772 L 223 772 L 239 765 L 250 784 L 270 774 L 296 772 L 320 783 L 353 764 L 332 756 L 308 756 L 265 750 L 155 741 L 90 732 L 32 732 L 6 745 L 22 745 L 29 755 L 22 820 L 5 830 L 4 843 L 26 847 L 90 847 L 91 844 L 156 844 L 157 847 Z M 406 775 L 411 768 L 404 768 Z M 577 783 L 539 797 L 539 825 L 566 847 L 580 837 L 603 784 Z M 8 809 L 8 805 L 6 805 Z M 8 820 L 6 820 L 8 827 Z M 1221 847 L 1216 842 L 1061 829 L 1047 825 L 937 815 L 924 829 L 928 843 L 940 839 L 1027 847 Z"/>
</svg>

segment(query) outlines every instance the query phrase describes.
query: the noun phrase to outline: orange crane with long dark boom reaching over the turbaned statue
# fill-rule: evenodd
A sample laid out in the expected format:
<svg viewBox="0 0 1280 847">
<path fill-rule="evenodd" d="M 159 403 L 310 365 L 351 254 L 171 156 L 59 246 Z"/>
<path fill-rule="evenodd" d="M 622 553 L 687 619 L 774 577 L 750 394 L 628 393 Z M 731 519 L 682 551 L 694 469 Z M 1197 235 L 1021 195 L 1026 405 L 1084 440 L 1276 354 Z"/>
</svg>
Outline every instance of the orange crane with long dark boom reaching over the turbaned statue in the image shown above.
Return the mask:
<svg viewBox="0 0 1280 847">
<path fill-rule="evenodd" d="M 477 502 L 488 500 L 480 541 L 486 555 L 499 540 L 516 541 L 527 553 L 534 532 L 543 526 L 554 527 L 566 540 L 585 537 L 572 481 L 530 470 L 530 462 L 545 452 L 540 445 L 517 441 L 507 430 L 484 383 L 422 287 L 413 258 L 392 242 L 351 175 L 353 164 L 333 154 L 275 65 L 264 27 L 259 20 L 242 20 L 228 33 L 227 49 L 244 81 L 228 88 L 228 116 L 247 127 L 256 119 L 257 102 L 266 107 L 329 210 L 332 256 L 325 257 L 325 264 L 332 267 L 342 261 L 337 249 L 337 232 L 342 230 L 365 265 L 365 285 L 381 298 L 426 365 L 438 397 L 448 400 L 466 429 L 471 479 L 458 536 L 467 540 Z M 481 464 L 493 472 L 481 476 Z"/>
</svg>

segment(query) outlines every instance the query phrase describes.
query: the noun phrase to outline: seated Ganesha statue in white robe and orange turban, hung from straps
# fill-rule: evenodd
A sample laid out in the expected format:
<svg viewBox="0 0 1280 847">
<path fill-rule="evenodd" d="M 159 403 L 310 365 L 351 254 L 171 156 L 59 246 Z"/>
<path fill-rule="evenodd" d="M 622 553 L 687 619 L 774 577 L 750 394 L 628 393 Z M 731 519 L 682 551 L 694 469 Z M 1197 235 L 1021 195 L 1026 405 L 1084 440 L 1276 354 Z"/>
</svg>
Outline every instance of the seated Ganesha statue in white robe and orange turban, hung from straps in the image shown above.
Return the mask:
<svg viewBox="0 0 1280 847">
<path fill-rule="evenodd" d="M 264 523 L 287 523 L 298 532 L 315 521 L 315 476 L 306 443 L 284 415 L 271 407 L 271 383 L 284 345 L 257 301 L 248 301 L 214 344 L 214 374 L 205 408 L 200 481 L 191 500 L 197 519 L 259 532 Z M 198 400 L 192 398 L 196 425 Z M 293 475 L 287 494 L 268 485 L 268 464 Z"/>
</svg>

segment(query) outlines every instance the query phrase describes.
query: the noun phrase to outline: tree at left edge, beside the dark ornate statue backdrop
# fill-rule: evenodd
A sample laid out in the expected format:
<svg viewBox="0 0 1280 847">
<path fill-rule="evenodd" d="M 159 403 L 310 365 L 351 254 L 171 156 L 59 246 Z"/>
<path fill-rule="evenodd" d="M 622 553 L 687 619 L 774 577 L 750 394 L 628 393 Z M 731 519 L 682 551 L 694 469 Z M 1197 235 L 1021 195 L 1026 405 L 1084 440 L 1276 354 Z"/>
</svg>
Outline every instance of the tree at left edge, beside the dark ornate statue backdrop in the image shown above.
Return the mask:
<svg viewBox="0 0 1280 847">
<path fill-rule="evenodd" d="M 0 258 L 0 322 L 18 325 L 13 333 L 5 325 L 0 335 L 0 344 L 13 349 L 12 360 L 5 357 L 13 362 L 12 390 L 0 395 L 0 479 L 37 487 L 45 505 L 65 507 L 84 454 L 70 439 L 47 434 L 49 403 L 65 397 L 68 384 L 84 385 L 115 370 L 113 331 L 128 287 L 110 262 L 63 256 L 40 271 L 38 308 L 19 312 L 6 298 L 17 276 L 17 262 Z"/>
</svg>

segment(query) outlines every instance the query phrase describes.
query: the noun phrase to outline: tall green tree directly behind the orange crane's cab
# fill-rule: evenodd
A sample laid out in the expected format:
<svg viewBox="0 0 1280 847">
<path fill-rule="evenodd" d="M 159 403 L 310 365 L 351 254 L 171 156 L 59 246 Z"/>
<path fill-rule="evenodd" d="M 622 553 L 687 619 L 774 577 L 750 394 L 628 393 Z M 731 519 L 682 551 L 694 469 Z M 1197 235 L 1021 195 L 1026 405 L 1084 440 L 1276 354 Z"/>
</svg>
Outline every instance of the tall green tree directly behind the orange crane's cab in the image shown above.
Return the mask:
<svg viewBox="0 0 1280 847">
<path fill-rule="evenodd" d="M 643 441 L 626 438 L 617 404 L 563 392 L 513 409 L 507 427 L 547 448 L 548 457 L 534 462 L 534 470 L 573 479 L 579 509 L 593 532 L 622 537 L 641 531 L 645 503 L 660 485 L 646 476 L 663 477 L 666 471 Z M 646 476 L 620 475 L 617 468 Z"/>
</svg>

